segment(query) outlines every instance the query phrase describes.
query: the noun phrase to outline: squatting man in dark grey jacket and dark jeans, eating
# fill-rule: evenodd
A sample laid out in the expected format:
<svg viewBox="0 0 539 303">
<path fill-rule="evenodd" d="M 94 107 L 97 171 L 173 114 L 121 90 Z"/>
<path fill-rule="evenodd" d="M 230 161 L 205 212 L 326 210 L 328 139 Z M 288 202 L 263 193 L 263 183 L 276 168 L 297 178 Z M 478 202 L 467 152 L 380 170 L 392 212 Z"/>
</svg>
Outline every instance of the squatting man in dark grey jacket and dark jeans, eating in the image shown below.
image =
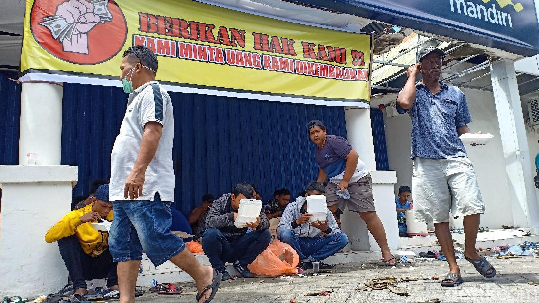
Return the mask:
<svg viewBox="0 0 539 303">
<path fill-rule="evenodd" d="M 230 274 L 225 269 L 225 262 L 233 263 L 241 277 L 254 277 L 254 274 L 247 269 L 247 265 L 251 264 L 271 241 L 269 221 L 264 212 L 260 212 L 256 222 L 248 223 L 247 227 L 234 226 L 240 200 L 252 197 L 253 187 L 246 182 L 238 183 L 232 193 L 213 201 L 208 211 L 206 230 L 202 235 L 202 248 L 213 268 L 223 273 L 223 281 L 230 279 Z M 248 227 L 253 231 L 247 232 Z"/>
</svg>

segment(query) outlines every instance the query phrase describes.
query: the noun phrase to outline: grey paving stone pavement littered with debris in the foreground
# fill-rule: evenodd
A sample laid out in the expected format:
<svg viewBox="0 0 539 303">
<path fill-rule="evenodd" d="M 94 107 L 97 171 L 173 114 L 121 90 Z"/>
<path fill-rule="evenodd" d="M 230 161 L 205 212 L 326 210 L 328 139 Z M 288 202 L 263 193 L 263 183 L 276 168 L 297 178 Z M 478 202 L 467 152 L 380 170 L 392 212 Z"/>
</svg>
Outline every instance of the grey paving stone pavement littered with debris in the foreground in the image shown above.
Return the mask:
<svg viewBox="0 0 539 303">
<path fill-rule="evenodd" d="M 458 287 L 441 287 L 439 280 L 401 282 L 409 296 L 404 297 L 388 290 L 356 291 L 367 280 L 381 277 L 429 277 L 440 279 L 447 273 L 446 262 L 399 264 L 397 268 L 384 267 L 381 262 L 349 263 L 337 265 L 327 276 L 238 278 L 223 281 L 212 302 L 423 302 L 439 298 L 441 302 L 539 302 L 539 286 L 528 282 L 539 282 L 539 258 L 489 259 L 496 267 L 497 275 L 483 278 L 466 260 L 458 260 L 465 283 Z M 309 272 L 309 271 L 308 271 Z M 159 281 L 164 283 L 166 281 Z M 177 284 L 184 288 L 181 295 L 145 293 L 137 302 L 195 302 L 194 283 Z M 334 290 L 329 297 L 305 297 L 308 292 Z"/>
</svg>

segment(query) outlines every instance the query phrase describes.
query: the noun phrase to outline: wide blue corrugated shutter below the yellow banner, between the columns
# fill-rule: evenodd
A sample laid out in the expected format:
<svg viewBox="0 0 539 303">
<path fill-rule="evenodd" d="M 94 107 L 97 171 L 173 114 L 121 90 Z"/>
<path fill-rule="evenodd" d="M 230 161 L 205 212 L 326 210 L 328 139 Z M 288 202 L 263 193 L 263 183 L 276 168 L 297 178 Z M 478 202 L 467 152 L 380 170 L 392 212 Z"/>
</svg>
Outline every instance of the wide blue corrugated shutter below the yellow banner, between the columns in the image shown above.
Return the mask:
<svg viewBox="0 0 539 303">
<path fill-rule="evenodd" d="M 169 93 L 175 112 L 176 207 L 189 215 L 202 195 L 229 193 L 236 182 L 257 185 L 264 200 L 275 188 L 294 195 L 315 180 L 315 146 L 306 125 L 321 119 L 346 137 L 344 108 Z M 110 177 L 110 151 L 127 94 L 118 87 L 64 84 L 62 165 L 79 166 L 73 195 Z M 295 197 L 294 197 L 295 198 Z"/>
</svg>

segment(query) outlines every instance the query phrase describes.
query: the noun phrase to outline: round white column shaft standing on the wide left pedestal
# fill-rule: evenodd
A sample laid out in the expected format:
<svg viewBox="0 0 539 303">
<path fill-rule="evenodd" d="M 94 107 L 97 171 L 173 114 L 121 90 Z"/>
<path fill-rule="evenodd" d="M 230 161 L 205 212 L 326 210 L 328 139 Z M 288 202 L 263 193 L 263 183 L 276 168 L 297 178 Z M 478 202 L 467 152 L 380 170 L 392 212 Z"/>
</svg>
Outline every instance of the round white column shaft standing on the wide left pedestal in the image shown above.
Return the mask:
<svg viewBox="0 0 539 303">
<path fill-rule="evenodd" d="M 37 153 L 36 165 L 60 165 L 62 84 L 25 82 L 20 92 L 19 165 Z"/>
</svg>

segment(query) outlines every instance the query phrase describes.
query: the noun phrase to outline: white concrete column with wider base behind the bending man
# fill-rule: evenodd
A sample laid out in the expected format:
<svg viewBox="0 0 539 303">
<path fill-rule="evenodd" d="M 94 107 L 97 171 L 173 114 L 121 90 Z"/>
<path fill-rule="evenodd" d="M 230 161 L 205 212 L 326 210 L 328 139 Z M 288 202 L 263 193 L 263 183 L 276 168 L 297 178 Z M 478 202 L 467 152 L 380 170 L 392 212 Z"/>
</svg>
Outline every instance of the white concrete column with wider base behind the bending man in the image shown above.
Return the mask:
<svg viewBox="0 0 539 303">
<path fill-rule="evenodd" d="M 375 207 L 378 217 L 384 224 L 388 245 L 390 249 L 399 248 L 397 213 L 395 211 L 388 212 L 388 209 L 395 208 L 393 184 L 397 182 L 397 175 L 395 172 L 376 171 L 370 109 L 347 108 L 345 117 L 348 142 L 357 151 L 367 169 L 371 171 Z M 345 211 L 341 215 L 341 226 L 345 234 L 348 235 L 351 249 L 362 251 L 379 250 L 379 246 L 367 229 L 367 225 L 356 213 Z"/>
</svg>

